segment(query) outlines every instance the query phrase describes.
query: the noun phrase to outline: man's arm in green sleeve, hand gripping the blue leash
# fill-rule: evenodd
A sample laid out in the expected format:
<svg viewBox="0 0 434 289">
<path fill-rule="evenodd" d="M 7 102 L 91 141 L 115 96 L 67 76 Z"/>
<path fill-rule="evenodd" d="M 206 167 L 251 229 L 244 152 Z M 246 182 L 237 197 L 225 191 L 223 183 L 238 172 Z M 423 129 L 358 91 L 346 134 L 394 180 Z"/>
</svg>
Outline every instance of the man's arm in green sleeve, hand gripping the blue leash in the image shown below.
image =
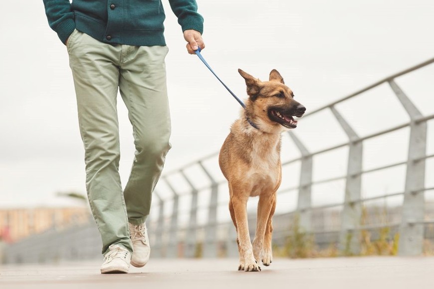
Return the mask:
<svg viewBox="0 0 434 289">
<path fill-rule="evenodd" d="M 183 29 L 188 52 L 194 54 L 198 47 L 204 49 L 204 18 L 198 13 L 196 0 L 169 0 L 169 3 Z"/>
</svg>

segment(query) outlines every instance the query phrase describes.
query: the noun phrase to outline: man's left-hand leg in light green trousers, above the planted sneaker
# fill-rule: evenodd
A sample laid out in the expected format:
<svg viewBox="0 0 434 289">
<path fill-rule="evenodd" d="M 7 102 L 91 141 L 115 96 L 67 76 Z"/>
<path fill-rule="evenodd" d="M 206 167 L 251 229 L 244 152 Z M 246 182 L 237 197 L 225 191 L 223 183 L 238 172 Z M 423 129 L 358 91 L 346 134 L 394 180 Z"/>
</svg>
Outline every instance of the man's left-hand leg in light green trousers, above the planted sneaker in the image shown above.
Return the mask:
<svg viewBox="0 0 434 289">
<path fill-rule="evenodd" d="M 80 133 L 85 148 L 86 188 L 101 234 L 103 254 L 112 244 L 132 252 L 119 177 L 119 126 L 116 97 L 120 45 L 112 46 L 74 31 L 68 39 L 77 96 Z"/>
</svg>

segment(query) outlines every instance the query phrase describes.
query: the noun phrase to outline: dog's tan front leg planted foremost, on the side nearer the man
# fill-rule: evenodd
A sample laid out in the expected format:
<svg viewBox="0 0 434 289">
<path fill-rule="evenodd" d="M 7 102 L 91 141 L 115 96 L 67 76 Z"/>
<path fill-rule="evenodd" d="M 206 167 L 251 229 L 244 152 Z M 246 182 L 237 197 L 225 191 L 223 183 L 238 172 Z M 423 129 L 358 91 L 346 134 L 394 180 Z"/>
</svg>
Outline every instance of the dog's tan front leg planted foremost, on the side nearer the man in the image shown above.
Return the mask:
<svg viewBox="0 0 434 289">
<path fill-rule="evenodd" d="M 244 271 L 260 271 L 260 267 L 253 257 L 253 249 L 250 242 L 250 235 L 248 233 L 247 222 L 247 199 L 248 195 L 238 195 L 240 191 L 235 192 L 232 195 L 233 211 L 235 213 L 238 246 L 240 253 L 240 260 L 244 260 Z M 240 267 L 241 267 L 240 263 Z"/>
</svg>

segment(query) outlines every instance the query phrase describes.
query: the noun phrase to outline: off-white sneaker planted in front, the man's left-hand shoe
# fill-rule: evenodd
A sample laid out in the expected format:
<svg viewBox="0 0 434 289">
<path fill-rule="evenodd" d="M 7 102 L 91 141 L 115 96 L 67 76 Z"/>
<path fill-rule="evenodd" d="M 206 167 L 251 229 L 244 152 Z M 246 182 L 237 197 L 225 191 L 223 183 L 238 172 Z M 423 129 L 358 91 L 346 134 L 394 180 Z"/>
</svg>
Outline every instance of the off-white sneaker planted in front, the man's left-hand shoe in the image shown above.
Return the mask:
<svg viewBox="0 0 434 289">
<path fill-rule="evenodd" d="M 130 252 L 114 244 L 110 245 L 109 250 L 101 265 L 101 274 L 128 273 L 131 262 Z"/>
</svg>

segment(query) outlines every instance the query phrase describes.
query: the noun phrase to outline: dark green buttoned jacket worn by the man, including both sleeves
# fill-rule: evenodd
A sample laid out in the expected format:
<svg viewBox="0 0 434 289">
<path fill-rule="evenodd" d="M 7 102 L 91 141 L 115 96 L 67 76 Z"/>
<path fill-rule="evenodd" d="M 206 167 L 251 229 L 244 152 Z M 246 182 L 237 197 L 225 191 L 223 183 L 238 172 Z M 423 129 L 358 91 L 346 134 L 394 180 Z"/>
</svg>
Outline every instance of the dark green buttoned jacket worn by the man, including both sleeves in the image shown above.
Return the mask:
<svg viewBox="0 0 434 289">
<path fill-rule="evenodd" d="M 43 0 L 48 24 L 65 43 L 76 28 L 105 43 L 166 45 L 161 0 Z M 196 0 L 169 0 L 183 31 L 203 32 Z"/>
</svg>

